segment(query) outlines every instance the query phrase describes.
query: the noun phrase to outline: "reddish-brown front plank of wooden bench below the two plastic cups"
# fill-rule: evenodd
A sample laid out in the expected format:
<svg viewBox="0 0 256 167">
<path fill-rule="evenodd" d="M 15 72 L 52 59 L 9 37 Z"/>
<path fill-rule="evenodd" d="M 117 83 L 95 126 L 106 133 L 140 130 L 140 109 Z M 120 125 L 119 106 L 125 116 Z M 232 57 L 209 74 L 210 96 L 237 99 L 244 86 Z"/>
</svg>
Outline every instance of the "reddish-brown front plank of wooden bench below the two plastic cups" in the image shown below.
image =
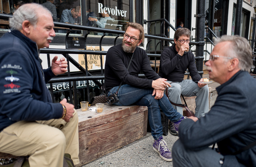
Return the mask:
<svg viewBox="0 0 256 167">
<path fill-rule="evenodd" d="M 79 132 L 79 159 L 82 166 L 119 149 L 146 134 L 148 112 L 140 112 Z"/>
</svg>

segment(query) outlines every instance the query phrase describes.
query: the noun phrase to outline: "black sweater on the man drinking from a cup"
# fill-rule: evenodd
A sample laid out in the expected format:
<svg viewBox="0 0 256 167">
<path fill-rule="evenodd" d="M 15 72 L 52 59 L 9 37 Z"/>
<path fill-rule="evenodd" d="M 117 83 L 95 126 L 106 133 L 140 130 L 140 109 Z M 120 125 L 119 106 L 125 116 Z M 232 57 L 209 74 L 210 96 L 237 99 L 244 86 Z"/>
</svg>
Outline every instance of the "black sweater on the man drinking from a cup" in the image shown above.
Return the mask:
<svg viewBox="0 0 256 167">
<path fill-rule="evenodd" d="M 184 52 L 184 55 L 180 56 L 175 49 L 175 44 L 166 47 L 161 54 L 158 75 L 168 81 L 181 82 L 184 79 L 186 69 L 190 72 L 193 81 L 201 79 L 196 69 L 195 57 L 192 52 Z"/>
</svg>

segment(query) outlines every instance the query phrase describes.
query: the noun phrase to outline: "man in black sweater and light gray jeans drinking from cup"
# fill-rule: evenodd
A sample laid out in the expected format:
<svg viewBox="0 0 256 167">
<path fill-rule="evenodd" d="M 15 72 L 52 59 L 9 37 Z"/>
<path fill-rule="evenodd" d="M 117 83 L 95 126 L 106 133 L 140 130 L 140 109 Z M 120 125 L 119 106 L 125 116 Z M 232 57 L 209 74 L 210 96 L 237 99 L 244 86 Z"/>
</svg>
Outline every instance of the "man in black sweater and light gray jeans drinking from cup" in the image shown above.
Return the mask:
<svg viewBox="0 0 256 167">
<path fill-rule="evenodd" d="M 189 51 L 191 32 L 187 28 L 179 28 L 174 33 L 174 44 L 166 47 L 161 54 L 159 76 L 166 78 L 172 87 L 168 88 L 169 99 L 181 104 L 180 94 L 196 96 L 196 117 L 201 118 L 209 111 L 208 86 L 197 83 L 203 81 L 198 74 L 194 54 Z M 183 80 L 188 69 L 192 80 Z M 182 114 L 182 107 L 174 106 Z M 169 124 L 170 133 L 178 135 L 172 122 Z"/>
</svg>

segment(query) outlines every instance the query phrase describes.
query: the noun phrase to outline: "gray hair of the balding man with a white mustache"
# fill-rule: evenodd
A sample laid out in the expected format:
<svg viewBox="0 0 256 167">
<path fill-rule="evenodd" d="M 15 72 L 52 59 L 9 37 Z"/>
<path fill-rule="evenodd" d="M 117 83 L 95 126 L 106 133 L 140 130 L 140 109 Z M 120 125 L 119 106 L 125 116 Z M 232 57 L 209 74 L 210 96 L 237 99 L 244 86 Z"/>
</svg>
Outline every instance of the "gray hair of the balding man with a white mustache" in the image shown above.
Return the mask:
<svg viewBox="0 0 256 167">
<path fill-rule="evenodd" d="M 13 17 L 10 18 L 10 27 L 12 30 L 21 30 L 22 23 L 25 20 L 28 20 L 34 27 L 38 21 L 38 14 L 50 14 L 52 13 L 44 8 L 40 4 L 24 4 L 18 8 L 13 14 Z"/>
</svg>

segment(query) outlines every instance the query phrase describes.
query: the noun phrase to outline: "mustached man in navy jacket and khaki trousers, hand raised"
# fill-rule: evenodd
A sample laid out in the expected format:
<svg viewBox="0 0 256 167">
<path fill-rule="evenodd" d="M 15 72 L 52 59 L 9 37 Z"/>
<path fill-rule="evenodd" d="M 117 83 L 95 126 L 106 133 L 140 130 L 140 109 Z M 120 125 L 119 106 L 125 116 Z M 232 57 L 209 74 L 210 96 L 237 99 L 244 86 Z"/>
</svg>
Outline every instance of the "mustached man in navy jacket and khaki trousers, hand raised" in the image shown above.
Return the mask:
<svg viewBox="0 0 256 167">
<path fill-rule="evenodd" d="M 64 57 L 43 70 L 39 51 L 55 36 L 52 14 L 24 4 L 0 38 L 0 152 L 29 155 L 30 167 L 63 167 L 64 153 L 79 163 L 78 116 L 66 99 L 53 103 L 46 83 L 67 71 Z"/>
</svg>

